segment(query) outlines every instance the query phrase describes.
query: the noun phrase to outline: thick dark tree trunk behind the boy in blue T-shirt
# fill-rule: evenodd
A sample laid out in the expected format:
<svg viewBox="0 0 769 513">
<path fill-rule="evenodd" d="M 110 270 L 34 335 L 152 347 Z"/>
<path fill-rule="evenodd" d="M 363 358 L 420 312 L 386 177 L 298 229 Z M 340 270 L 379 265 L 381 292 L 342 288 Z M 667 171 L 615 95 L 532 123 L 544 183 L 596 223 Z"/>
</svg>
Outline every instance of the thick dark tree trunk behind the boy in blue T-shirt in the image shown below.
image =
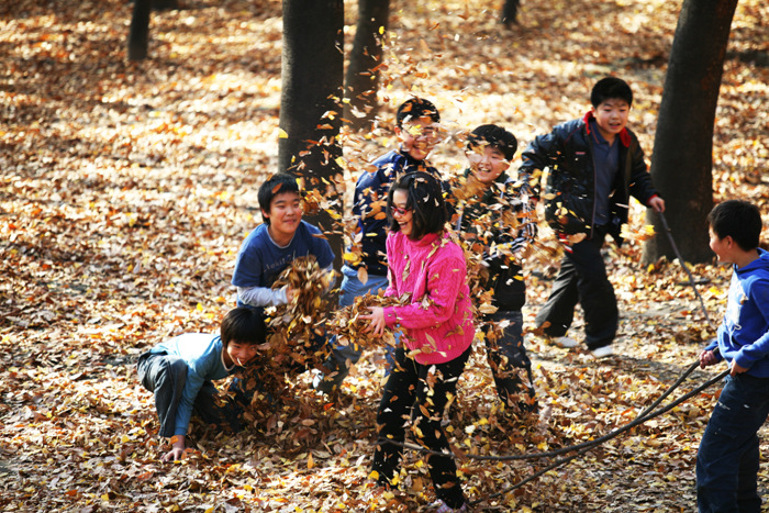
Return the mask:
<svg viewBox="0 0 769 513">
<path fill-rule="evenodd" d="M 343 0 L 283 0 L 282 89 L 278 168 L 304 179 L 308 191 L 323 196 L 319 213 L 308 222 L 323 230 L 342 267 L 342 232 L 333 216 L 342 214 L 344 178 L 337 158 L 342 125 L 339 107 L 344 75 Z"/>
</svg>

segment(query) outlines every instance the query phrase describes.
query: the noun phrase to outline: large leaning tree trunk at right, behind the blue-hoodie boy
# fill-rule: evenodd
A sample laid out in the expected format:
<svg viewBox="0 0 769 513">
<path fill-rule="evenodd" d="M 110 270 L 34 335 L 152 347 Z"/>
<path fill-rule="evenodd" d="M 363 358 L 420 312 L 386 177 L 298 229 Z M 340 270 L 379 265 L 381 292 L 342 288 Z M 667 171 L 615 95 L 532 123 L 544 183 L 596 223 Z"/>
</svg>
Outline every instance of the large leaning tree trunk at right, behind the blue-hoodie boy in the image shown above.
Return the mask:
<svg viewBox="0 0 769 513">
<path fill-rule="evenodd" d="M 684 260 L 710 261 L 705 218 L 713 207 L 713 124 L 726 45 L 737 0 L 684 0 L 659 108 L 651 179 L 666 200 L 676 246 Z M 676 257 L 658 214 L 648 210 L 657 236 L 643 261 Z"/>
</svg>

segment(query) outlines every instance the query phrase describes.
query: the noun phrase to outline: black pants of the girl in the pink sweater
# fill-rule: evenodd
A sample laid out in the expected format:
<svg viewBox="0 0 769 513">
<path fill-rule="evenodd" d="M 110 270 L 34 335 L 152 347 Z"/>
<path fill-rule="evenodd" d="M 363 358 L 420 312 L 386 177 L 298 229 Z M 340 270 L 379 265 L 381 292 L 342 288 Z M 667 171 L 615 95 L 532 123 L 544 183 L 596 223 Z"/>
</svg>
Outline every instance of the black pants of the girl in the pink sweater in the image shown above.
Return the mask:
<svg viewBox="0 0 769 513">
<path fill-rule="evenodd" d="M 459 357 L 433 366 L 406 357 L 403 346 L 395 349 L 394 368 L 384 384 L 377 413 L 379 442 L 374 453 L 372 470 L 379 473 L 380 483 L 392 482 L 403 457 L 402 447 L 386 440 L 404 442 L 405 424 L 412 419 L 412 410 L 411 431 L 415 440 L 431 450 L 452 454 L 441 421 L 448 398 L 456 395 L 457 380 L 465 370 L 470 352 L 468 347 Z M 465 495 L 454 458 L 428 455 L 425 459 L 438 499 L 450 508 L 461 508 Z"/>
</svg>

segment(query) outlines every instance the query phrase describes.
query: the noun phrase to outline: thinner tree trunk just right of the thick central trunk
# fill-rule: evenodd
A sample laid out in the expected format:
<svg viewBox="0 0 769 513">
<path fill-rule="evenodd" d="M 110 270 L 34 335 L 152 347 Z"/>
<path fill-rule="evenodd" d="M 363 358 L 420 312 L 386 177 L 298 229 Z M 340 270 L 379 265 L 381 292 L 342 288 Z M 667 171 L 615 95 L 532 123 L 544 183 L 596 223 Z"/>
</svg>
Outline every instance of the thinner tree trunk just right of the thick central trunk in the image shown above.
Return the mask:
<svg viewBox="0 0 769 513">
<path fill-rule="evenodd" d="M 355 131 L 370 127 L 377 115 L 379 65 L 382 62 L 382 37 L 388 27 L 390 0 L 359 0 L 358 24 L 345 77 L 344 118 Z"/>
</svg>

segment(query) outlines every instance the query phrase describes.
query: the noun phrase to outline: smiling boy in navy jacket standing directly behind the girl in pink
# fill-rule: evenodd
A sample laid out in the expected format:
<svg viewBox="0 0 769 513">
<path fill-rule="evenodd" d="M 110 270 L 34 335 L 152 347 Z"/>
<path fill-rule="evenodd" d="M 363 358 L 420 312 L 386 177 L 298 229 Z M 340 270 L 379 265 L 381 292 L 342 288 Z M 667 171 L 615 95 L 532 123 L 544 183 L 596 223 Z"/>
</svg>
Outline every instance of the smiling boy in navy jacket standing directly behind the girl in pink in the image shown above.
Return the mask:
<svg viewBox="0 0 769 513">
<path fill-rule="evenodd" d="M 355 298 L 366 293 L 376 294 L 387 288 L 387 259 L 384 239 L 387 215 L 382 212 L 390 185 L 403 175 L 426 171 L 438 177 L 438 171 L 426 160 L 437 142 L 437 127 L 441 114 L 435 105 L 422 98 L 404 101 L 395 113 L 395 136 L 400 144 L 376 159 L 372 172 L 365 171 L 355 185 L 353 214 L 358 218 L 358 233 L 363 258 L 360 261 L 345 264 L 342 267 L 342 286 L 339 287 L 339 306 L 348 306 Z M 361 280 L 358 272 L 366 272 Z M 360 350 L 346 349 L 349 363 L 341 367 L 335 376 L 326 376 L 319 390 L 332 390 L 338 387 L 349 371 L 349 365 L 360 358 Z M 388 360 L 391 355 L 388 354 Z"/>
</svg>

